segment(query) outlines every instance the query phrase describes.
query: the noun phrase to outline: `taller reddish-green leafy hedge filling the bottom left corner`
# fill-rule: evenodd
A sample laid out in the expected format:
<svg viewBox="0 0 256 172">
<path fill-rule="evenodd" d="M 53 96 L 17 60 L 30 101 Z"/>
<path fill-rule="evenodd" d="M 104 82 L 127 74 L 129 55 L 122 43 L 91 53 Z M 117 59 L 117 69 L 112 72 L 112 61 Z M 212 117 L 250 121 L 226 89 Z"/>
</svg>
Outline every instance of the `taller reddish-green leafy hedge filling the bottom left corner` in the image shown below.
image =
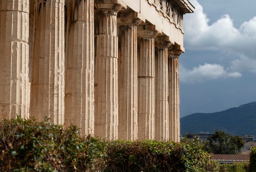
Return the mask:
<svg viewBox="0 0 256 172">
<path fill-rule="evenodd" d="M 85 171 L 104 165 L 101 140 L 79 136 L 76 126 L 65 129 L 47 120 L 0 121 L 0 170 Z"/>
</svg>

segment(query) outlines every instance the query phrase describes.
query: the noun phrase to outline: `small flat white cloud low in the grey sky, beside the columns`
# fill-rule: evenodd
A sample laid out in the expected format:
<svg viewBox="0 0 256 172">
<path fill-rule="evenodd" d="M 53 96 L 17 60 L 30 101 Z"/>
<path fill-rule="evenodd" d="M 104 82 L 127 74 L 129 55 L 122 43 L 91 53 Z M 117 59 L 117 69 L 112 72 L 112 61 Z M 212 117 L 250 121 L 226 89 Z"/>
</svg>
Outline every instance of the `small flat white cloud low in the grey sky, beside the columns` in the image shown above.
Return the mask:
<svg viewBox="0 0 256 172">
<path fill-rule="evenodd" d="M 225 70 L 223 66 L 218 64 L 204 63 L 193 69 L 186 69 L 180 65 L 180 81 L 183 83 L 203 83 L 207 80 L 215 80 L 219 78 L 241 77 L 242 74 L 239 72 L 229 72 Z"/>
</svg>

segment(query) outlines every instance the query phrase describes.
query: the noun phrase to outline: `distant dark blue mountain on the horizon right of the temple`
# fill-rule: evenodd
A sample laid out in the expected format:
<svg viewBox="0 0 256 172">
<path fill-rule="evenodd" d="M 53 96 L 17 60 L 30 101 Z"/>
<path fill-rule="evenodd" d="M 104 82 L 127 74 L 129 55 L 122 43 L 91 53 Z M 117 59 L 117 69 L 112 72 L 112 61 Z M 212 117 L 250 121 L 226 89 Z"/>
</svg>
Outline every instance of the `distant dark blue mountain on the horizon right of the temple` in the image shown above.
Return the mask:
<svg viewBox="0 0 256 172">
<path fill-rule="evenodd" d="M 215 113 L 194 113 L 180 118 L 180 134 L 225 131 L 256 137 L 256 102 Z"/>
</svg>

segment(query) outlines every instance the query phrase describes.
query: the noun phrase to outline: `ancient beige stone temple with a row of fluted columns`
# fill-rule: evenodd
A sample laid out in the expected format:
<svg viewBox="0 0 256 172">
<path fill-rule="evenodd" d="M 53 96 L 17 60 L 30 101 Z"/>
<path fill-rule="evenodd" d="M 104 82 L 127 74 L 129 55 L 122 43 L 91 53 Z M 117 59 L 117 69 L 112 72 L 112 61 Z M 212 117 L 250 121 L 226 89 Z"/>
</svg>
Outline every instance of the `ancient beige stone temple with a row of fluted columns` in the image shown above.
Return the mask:
<svg viewBox="0 0 256 172">
<path fill-rule="evenodd" d="M 1 118 L 180 139 L 188 0 L 0 0 Z"/>
</svg>

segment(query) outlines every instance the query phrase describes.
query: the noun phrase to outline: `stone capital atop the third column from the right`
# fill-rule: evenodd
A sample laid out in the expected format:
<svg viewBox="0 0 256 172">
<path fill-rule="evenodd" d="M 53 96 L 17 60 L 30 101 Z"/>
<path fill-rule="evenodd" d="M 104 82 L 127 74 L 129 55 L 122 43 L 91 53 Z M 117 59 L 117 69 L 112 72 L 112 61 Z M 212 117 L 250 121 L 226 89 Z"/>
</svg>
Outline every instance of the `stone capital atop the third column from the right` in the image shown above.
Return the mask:
<svg viewBox="0 0 256 172">
<path fill-rule="evenodd" d="M 159 32 L 156 30 L 155 25 L 146 24 L 139 25 L 137 28 L 138 38 L 141 37 L 143 39 L 152 39 L 157 37 Z"/>
</svg>

